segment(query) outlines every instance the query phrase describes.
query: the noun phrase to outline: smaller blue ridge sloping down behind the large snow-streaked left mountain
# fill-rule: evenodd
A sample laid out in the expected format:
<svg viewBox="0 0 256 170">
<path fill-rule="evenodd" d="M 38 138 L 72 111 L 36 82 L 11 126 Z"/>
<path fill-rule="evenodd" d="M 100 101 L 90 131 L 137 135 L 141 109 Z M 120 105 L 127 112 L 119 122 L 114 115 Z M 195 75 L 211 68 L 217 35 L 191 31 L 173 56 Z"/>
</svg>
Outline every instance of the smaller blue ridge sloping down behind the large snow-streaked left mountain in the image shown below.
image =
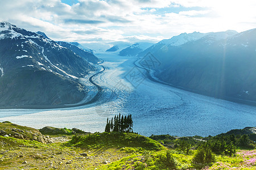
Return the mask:
<svg viewBox="0 0 256 170">
<path fill-rule="evenodd" d="M 81 49 L 78 46 L 73 45 L 69 42 L 57 41 L 57 44 L 64 46 L 65 48 L 71 49 L 75 54 L 84 58 L 88 62 L 92 62 L 94 64 L 98 64 L 98 63 L 102 62 L 102 60 L 97 58 L 96 56 L 94 56 L 93 53 L 87 52 L 84 49 Z"/>
</svg>

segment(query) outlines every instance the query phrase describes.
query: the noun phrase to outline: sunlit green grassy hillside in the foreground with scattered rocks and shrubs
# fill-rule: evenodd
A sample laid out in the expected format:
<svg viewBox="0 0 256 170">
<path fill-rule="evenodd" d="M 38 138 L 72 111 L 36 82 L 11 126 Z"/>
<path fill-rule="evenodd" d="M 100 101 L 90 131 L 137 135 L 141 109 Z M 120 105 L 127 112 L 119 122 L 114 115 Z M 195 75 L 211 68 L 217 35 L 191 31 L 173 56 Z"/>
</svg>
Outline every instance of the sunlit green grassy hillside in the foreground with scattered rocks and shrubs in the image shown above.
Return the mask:
<svg viewBox="0 0 256 170">
<path fill-rule="evenodd" d="M 90 134 L 76 128 L 71 130 L 52 127 L 40 129 L 42 133 L 47 133 L 43 135 L 37 129 L 11 122 L 0 123 L 0 128 L 0 169 L 232 169 L 233 167 L 255 169 L 256 167 L 256 150 L 248 150 L 246 147 L 243 147 L 243 150 L 236 147 L 236 155 L 230 156 L 226 153 L 212 154 L 216 151 L 209 152 L 205 148 L 203 151 L 208 152 L 208 157 L 204 154 L 201 160 L 204 163 L 200 163 L 199 153 L 202 152 L 202 146 L 205 147 L 204 141 L 215 140 L 218 143 L 221 139 L 218 136 L 181 138 L 152 135 L 147 138 L 134 133 Z M 226 139 L 229 137 L 231 136 L 225 135 L 222 141 L 228 142 Z M 175 147 L 164 147 L 158 141 L 163 145 L 174 143 Z M 229 145 L 225 144 L 225 147 Z M 255 144 L 250 144 L 250 147 L 255 147 Z"/>
</svg>

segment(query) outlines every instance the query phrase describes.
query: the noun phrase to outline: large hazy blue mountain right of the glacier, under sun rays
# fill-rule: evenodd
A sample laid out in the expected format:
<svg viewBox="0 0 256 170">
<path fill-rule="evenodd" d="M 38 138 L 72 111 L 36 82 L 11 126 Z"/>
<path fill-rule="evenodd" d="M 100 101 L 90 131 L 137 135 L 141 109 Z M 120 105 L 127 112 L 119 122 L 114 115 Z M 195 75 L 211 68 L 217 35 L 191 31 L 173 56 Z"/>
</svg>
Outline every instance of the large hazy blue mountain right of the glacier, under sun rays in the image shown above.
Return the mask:
<svg viewBox="0 0 256 170">
<path fill-rule="evenodd" d="M 204 95 L 256 102 L 256 29 L 207 33 L 200 39 L 150 51 L 160 80 Z"/>
</svg>

